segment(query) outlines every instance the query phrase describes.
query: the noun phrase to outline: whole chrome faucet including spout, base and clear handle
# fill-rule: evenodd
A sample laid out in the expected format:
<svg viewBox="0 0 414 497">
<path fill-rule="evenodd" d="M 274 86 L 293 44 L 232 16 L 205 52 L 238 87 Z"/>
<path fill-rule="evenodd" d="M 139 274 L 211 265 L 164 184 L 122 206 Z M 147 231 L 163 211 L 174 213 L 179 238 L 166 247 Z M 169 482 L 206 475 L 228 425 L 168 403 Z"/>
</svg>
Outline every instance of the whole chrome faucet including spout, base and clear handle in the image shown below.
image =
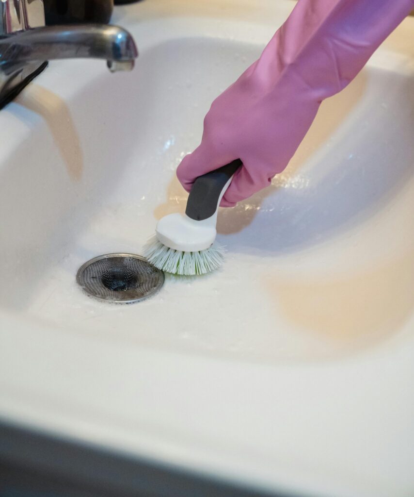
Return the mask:
<svg viewBox="0 0 414 497">
<path fill-rule="evenodd" d="M 131 71 L 133 37 L 106 24 L 45 26 L 43 0 L 0 0 L 0 108 L 53 59 L 104 59 L 111 72 Z"/>
</svg>

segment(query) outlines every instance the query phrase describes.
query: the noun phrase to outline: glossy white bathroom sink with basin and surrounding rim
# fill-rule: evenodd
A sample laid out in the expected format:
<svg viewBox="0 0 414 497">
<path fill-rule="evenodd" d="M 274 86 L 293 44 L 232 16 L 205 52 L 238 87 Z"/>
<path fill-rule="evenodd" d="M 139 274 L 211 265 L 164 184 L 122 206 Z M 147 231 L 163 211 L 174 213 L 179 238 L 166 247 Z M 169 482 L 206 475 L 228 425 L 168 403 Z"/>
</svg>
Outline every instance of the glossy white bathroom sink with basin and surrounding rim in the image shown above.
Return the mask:
<svg viewBox="0 0 414 497">
<path fill-rule="evenodd" d="M 414 18 L 221 210 L 220 270 L 133 305 L 75 281 L 185 209 L 177 165 L 292 5 L 118 7 L 132 73 L 53 62 L 0 112 L 3 420 L 258 491 L 414 494 Z"/>
</svg>

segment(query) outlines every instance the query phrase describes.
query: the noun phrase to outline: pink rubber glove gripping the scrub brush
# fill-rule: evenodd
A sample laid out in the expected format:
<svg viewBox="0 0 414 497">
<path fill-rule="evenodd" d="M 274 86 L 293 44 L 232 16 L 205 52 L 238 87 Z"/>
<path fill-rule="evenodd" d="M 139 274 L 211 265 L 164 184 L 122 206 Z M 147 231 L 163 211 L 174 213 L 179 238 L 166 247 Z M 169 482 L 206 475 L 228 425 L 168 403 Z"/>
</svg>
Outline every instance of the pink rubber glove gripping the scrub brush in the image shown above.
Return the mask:
<svg viewBox="0 0 414 497">
<path fill-rule="evenodd" d="M 221 205 L 268 186 L 288 164 L 319 105 L 341 91 L 414 7 L 414 0 L 299 0 L 260 59 L 219 95 L 201 145 L 177 169 L 196 177 L 241 159 Z"/>
</svg>

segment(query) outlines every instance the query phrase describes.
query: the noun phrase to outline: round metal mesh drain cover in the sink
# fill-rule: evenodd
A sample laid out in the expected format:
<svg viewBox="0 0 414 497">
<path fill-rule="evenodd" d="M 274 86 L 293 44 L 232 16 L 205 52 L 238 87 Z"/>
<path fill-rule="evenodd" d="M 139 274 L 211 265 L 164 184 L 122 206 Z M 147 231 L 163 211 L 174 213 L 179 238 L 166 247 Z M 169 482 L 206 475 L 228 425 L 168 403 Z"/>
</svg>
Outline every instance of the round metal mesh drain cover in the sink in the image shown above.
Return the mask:
<svg viewBox="0 0 414 497">
<path fill-rule="evenodd" d="M 164 284 L 164 273 L 139 255 L 109 253 L 85 262 L 76 281 L 92 297 L 126 304 L 154 295 Z"/>
</svg>

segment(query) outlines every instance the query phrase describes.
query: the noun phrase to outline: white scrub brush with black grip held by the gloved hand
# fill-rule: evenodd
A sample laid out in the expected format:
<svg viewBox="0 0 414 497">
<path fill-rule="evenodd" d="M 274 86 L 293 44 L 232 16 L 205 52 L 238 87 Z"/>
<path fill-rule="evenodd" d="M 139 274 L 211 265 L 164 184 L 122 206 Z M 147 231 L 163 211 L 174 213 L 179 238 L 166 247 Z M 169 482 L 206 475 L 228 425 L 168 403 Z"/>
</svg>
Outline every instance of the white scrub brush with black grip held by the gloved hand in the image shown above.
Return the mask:
<svg viewBox="0 0 414 497">
<path fill-rule="evenodd" d="M 169 214 L 157 223 L 144 255 L 167 273 L 206 274 L 223 262 L 224 248 L 215 242 L 221 198 L 242 162 L 236 161 L 199 176 L 191 189 L 185 214 Z"/>
</svg>

